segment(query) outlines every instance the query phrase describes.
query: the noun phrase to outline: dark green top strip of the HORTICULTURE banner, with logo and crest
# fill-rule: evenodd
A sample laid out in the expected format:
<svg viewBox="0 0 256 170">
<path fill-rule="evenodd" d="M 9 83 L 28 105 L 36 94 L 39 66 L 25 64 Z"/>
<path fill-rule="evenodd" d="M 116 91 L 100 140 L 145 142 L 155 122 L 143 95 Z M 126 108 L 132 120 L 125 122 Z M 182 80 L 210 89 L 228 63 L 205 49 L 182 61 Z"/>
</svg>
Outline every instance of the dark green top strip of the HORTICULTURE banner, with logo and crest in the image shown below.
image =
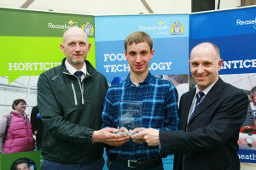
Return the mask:
<svg viewBox="0 0 256 170">
<path fill-rule="evenodd" d="M 0 8 L 0 36 L 62 37 L 72 26 L 79 26 L 94 37 L 94 16 Z"/>
</svg>

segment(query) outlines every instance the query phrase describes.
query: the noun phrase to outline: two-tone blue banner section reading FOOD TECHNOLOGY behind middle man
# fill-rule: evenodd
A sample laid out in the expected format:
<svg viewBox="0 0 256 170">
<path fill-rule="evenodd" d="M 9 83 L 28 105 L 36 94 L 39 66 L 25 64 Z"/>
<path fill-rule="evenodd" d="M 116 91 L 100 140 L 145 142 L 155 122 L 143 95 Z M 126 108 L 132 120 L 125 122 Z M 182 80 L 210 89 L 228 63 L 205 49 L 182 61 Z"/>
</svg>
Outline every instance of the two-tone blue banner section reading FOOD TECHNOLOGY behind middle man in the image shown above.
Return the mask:
<svg viewBox="0 0 256 170">
<path fill-rule="evenodd" d="M 126 77 L 125 38 L 134 31 L 152 37 L 154 58 L 149 69 L 154 75 L 189 73 L 189 14 L 99 16 L 96 23 L 96 69 L 108 82 Z"/>
</svg>

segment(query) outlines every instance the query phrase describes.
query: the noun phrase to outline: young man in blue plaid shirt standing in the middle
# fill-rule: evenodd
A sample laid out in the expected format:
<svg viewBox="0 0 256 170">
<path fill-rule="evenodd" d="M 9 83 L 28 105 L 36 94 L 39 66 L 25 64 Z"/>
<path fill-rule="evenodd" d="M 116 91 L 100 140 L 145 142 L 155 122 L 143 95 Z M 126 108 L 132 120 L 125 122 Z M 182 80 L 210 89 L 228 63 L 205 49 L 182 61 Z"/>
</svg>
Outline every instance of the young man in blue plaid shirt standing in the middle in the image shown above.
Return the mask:
<svg viewBox="0 0 256 170">
<path fill-rule="evenodd" d="M 119 103 L 137 101 L 142 103 L 142 128 L 133 132 L 148 127 L 177 130 L 177 89 L 172 82 L 150 74 L 148 65 L 153 55 L 153 42 L 147 33 L 137 31 L 126 37 L 125 58 L 130 65 L 130 74 L 124 82 L 108 88 L 102 112 L 102 128 L 118 128 Z M 109 169 L 163 169 L 160 146 L 138 144 L 130 139 L 119 146 L 108 146 L 107 151 Z"/>
</svg>

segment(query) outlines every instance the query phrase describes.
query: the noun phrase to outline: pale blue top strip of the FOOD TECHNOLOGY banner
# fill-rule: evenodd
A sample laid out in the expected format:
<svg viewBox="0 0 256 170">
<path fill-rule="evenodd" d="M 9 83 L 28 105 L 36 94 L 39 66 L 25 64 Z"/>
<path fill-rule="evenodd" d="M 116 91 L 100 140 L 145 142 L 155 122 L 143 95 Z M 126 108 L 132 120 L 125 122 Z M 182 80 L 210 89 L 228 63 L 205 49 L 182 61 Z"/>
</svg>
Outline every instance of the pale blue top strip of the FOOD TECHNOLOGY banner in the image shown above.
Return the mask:
<svg viewBox="0 0 256 170">
<path fill-rule="evenodd" d="M 152 38 L 189 37 L 189 14 L 96 16 L 95 24 L 96 42 L 124 41 L 134 31 Z M 175 32 L 177 28 L 183 31 Z"/>
</svg>

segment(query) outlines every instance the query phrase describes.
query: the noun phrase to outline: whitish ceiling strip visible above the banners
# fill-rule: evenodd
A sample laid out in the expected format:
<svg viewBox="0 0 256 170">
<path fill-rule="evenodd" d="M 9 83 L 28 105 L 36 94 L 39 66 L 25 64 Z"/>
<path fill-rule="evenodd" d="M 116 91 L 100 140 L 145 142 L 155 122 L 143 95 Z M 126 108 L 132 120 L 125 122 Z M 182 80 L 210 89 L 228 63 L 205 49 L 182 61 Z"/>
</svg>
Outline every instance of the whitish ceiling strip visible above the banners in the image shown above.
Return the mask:
<svg viewBox="0 0 256 170">
<path fill-rule="evenodd" d="M 237 8 L 241 0 L 215 0 L 222 8 Z M 75 14 L 189 14 L 191 0 L 0 0 L 3 8 L 26 8 Z"/>
</svg>

